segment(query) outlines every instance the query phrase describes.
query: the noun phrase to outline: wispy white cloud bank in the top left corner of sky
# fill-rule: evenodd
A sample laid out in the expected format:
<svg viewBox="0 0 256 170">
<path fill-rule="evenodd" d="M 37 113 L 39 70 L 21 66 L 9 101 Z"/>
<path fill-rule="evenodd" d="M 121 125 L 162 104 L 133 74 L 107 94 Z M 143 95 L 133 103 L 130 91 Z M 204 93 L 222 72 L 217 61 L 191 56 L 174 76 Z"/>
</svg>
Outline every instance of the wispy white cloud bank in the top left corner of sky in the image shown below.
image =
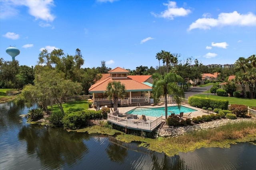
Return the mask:
<svg viewBox="0 0 256 170">
<path fill-rule="evenodd" d="M 16 9 L 18 6 L 26 6 L 28 7 L 28 13 L 31 16 L 34 16 L 36 20 L 44 20 L 44 21 L 53 21 L 55 16 L 51 14 L 50 7 L 54 6 L 53 0 L 11 0 L 11 1 L 2 1 L 1 6 L 7 6 L 5 10 L 4 7 L 1 8 L 1 16 L 4 17 L 14 16 L 18 14 L 18 10 Z"/>
</svg>

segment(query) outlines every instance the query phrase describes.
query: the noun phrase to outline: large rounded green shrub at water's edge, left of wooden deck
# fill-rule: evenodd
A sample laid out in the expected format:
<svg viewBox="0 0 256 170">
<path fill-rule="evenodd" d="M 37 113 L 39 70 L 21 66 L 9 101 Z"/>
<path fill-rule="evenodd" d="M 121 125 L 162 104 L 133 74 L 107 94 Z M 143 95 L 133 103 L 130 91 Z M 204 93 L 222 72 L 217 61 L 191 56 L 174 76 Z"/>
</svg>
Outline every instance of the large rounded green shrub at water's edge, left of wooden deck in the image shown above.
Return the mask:
<svg viewBox="0 0 256 170">
<path fill-rule="evenodd" d="M 90 115 L 84 111 L 76 111 L 66 113 L 62 119 L 65 129 L 79 129 L 82 126 L 88 125 Z"/>
</svg>

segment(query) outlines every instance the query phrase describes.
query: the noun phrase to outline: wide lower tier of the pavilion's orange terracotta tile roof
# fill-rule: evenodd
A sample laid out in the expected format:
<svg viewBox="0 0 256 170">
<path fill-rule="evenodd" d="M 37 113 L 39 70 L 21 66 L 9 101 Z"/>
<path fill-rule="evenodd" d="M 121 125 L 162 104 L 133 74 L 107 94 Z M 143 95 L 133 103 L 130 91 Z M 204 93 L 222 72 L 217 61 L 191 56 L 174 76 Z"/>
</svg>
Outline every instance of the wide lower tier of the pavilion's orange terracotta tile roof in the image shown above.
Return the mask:
<svg viewBox="0 0 256 170">
<path fill-rule="evenodd" d="M 89 92 L 104 92 L 104 91 L 106 91 L 106 87 L 107 87 L 108 83 L 112 82 L 112 81 L 120 81 L 121 84 L 124 84 L 126 91 L 142 91 L 142 90 L 151 91 L 152 90 L 152 87 L 150 87 L 146 84 L 137 82 L 136 80 L 132 80 L 131 78 L 114 79 L 113 80 L 111 77 L 108 77 L 108 78 L 102 80 L 101 82 L 93 84 L 90 87 Z"/>
</svg>

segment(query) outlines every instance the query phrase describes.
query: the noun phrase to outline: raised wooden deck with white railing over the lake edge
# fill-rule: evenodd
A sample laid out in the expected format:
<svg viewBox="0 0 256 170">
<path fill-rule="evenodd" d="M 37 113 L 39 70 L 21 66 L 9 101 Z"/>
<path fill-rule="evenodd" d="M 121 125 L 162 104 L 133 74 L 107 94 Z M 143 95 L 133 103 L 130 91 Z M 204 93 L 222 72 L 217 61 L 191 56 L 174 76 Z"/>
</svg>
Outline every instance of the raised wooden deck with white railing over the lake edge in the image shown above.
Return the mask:
<svg viewBox="0 0 256 170">
<path fill-rule="evenodd" d="M 147 121 L 140 121 L 139 119 L 134 119 L 131 116 L 127 117 L 118 117 L 113 115 L 113 113 L 108 113 L 108 121 L 111 123 L 114 123 L 116 125 L 126 127 L 128 129 L 135 129 L 135 130 L 142 130 L 142 131 L 148 131 L 152 132 L 158 125 L 162 123 L 162 116 L 160 117 L 149 117 L 149 120 Z"/>
</svg>

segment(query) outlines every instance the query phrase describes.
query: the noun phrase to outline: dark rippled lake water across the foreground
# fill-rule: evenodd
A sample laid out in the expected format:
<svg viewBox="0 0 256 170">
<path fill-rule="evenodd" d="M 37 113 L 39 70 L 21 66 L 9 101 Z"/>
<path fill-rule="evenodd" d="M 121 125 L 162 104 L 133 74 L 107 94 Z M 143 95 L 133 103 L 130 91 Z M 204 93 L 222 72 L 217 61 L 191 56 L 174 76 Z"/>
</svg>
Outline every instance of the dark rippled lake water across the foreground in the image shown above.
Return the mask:
<svg viewBox="0 0 256 170">
<path fill-rule="evenodd" d="M 36 106 L 34 106 L 36 107 Z M 108 135 L 30 125 L 28 108 L 0 104 L 0 170 L 254 170 L 256 145 L 202 148 L 166 156 Z"/>
</svg>

